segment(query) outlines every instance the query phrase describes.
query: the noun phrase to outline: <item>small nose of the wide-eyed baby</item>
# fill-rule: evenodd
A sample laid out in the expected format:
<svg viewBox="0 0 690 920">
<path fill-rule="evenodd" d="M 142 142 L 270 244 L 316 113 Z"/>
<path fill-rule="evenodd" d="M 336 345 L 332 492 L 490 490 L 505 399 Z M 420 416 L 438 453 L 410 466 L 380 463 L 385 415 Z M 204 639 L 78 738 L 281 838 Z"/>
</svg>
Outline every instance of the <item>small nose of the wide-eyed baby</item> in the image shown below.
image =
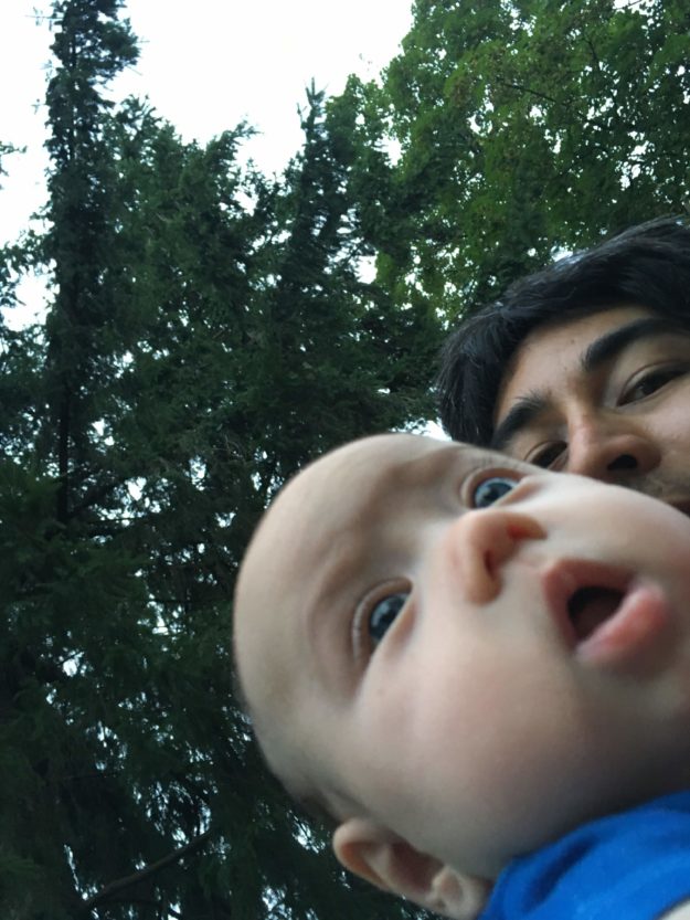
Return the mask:
<svg viewBox="0 0 690 920">
<path fill-rule="evenodd" d="M 453 570 L 465 600 L 492 601 L 501 589 L 501 570 L 524 540 L 541 540 L 542 527 L 528 515 L 507 508 L 467 511 L 449 528 Z"/>
</svg>

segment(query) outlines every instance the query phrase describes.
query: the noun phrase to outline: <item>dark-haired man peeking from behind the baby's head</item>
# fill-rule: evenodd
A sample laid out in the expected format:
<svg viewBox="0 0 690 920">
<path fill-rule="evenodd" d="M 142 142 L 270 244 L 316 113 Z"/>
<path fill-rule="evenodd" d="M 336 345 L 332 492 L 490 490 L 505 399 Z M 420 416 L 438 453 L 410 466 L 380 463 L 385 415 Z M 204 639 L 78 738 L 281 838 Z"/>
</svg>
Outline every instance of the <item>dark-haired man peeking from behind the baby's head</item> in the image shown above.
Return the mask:
<svg viewBox="0 0 690 920">
<path fill-rule="evenodd" d="M 690 230 L 631 228 L 512 285 L 448 340 L 452 437 L 690 514 Z"/>
</svg>

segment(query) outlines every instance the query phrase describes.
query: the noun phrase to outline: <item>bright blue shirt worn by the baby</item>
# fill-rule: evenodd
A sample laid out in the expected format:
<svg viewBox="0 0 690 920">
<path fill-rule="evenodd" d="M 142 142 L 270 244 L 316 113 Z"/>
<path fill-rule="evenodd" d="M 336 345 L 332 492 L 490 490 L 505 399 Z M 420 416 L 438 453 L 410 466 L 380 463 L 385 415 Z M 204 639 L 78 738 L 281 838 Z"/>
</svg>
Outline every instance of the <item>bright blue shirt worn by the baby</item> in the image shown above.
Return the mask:
<svg viewBox="0 0 690 920">
<path fill-rule="evenodd" d="M 654 920 L 690 900 L 690 792 L 583 824 L 499 877 L 481 920 Z"/>
</svg>

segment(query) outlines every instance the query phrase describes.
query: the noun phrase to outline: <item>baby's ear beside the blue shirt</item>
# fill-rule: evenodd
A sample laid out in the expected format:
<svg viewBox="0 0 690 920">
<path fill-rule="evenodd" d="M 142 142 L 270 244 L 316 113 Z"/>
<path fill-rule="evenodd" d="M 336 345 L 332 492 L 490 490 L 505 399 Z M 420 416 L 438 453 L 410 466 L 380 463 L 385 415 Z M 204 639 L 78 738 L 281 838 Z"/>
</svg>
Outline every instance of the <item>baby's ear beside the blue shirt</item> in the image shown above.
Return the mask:
<svg viewBox="0 0 690 920">
<path fill-rule="evenodd" d="M 491 890 L 486 879 L 458 873 L 368 818 L 348 818 L 332 843 L 346 869 L 452 920 L 476 920 Z"/>
</svg>

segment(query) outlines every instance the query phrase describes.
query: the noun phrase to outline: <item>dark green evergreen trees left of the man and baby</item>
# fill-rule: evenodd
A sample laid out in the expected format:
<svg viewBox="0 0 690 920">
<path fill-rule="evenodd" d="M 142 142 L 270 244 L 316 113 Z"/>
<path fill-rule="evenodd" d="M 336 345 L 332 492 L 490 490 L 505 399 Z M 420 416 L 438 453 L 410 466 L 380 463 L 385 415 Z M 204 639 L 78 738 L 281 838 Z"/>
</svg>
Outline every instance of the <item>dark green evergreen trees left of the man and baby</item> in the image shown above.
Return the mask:
<svg viewBox="0 0 690 920">
<path fill-rule="evenodd" d="M 428 413 L 426 308 L 361 281 L 355 107 L 280 180 L 240 126 L 108 102 L 119 0 L 54 4 L 43 328 L 1 330 L 0 906 L 29 920 L 405 917 L 347 881 L 232 698 L 238 560 L 286 476 Z M 8 299 L 8 303 L 9 303 Z M 353 897 L 353 887 L 358 896 Z"/>
</svg>

